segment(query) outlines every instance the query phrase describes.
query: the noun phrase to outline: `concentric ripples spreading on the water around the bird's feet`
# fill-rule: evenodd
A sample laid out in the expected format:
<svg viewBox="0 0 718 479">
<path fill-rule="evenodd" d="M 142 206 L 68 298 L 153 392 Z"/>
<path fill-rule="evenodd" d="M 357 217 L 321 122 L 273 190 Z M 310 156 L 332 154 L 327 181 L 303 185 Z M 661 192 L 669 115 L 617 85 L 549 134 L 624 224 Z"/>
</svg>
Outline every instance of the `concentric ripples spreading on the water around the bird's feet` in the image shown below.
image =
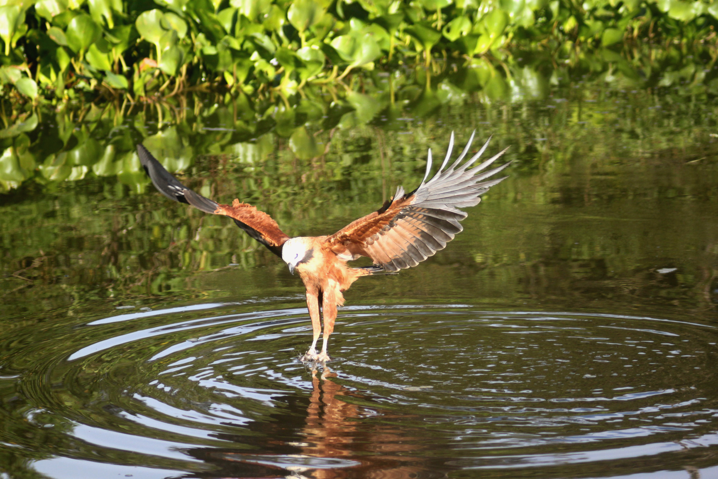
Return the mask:
<svg viewBox="0 0 718 479">
<path fill-rule="evenodd" d="M 714 465 L 711 325 L 347 307 L 334 361 L 312 368 L 297 360 L 311 336 L 306 310 L 287 304 L 297 299 L 129 312 L 68 327 L 60 341 L 20 339 L 12 356 L 25 363 L 0 371 L 28 404 L 8 418 L 27 425 L 12 430 L 47 434 L 43 452 L 64 451 L 37 470 L 93 461 L 108 471 L 98 477 L 132 468 L 148 478 L 430 478 L 478 468 L 513 478 L 537 467 L 541 477 L 604 477 L 610 467 L 663 478 Z M 27 442 L 18 434 L 8 444 Z"/>
</svg>

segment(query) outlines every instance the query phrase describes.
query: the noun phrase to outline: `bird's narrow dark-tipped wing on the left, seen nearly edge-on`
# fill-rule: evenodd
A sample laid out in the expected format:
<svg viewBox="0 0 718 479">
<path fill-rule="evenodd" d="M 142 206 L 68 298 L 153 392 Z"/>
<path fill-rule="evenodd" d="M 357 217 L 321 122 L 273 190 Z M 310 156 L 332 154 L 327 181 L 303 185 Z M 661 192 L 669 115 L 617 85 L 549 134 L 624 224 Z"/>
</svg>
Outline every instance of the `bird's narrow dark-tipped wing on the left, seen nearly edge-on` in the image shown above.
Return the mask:
<svg viewBox="0 0 718 479">
<path fill-rule="evenodd" d="M 192 205 L 198 210 L 215 215 L 229 216 L 234 222 L 248 233 L 249 236 L 264 244 L 269 251 L 281 257 L 281 246 L 289 236 L 286 236 L 276 221 L 264 211 L 257 210 L 252 205 L 240 203 L 234 200 L 232 205 L 220 205 L 209 198 L 198 195 L 194 191 L 182 185 L 177 178 L 172 176 L 162 164 L 157 161 L 147 149 L 137 145 L 139 161 L 144 171 L 151 178 L 157 190 L 170 200 L 179 201 Z"/>
</svg>

